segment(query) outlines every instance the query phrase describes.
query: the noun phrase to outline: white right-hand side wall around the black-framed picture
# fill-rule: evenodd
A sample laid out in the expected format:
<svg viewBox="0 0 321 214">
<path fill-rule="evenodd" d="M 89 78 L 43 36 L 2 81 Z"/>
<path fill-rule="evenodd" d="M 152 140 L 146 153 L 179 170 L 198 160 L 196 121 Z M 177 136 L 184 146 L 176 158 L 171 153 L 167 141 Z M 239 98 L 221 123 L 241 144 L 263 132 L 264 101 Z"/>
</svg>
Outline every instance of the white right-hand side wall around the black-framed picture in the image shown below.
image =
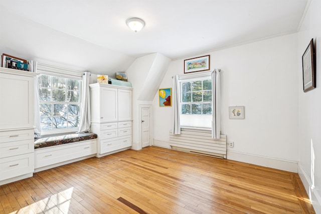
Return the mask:
<svg viewBox="0 0 321 214">
<path fill-rule="evenodd" d="M 321 213 L 321 2 L 312 0 L 298 33 L 298 122 L 299 175 L 312 199 L 317 213 Z M 313 38 L 316 47 L 316 88 L 303 92 L 301 57 Z"/>
</svg>

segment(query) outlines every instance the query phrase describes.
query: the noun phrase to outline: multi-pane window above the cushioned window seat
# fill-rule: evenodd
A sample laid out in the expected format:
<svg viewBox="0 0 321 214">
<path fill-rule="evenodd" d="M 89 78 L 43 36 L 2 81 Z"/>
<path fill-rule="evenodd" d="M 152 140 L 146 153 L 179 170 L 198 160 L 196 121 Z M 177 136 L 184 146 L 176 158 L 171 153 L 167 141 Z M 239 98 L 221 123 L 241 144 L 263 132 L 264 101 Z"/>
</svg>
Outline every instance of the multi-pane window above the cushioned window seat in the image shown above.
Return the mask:
<svg viewBox="0 0 321 214">
<path fill-rule="evenodd" d="M 41 74 L 38 77 L 42 134 L 77 131 L 81 81 Z"/>
</svg>

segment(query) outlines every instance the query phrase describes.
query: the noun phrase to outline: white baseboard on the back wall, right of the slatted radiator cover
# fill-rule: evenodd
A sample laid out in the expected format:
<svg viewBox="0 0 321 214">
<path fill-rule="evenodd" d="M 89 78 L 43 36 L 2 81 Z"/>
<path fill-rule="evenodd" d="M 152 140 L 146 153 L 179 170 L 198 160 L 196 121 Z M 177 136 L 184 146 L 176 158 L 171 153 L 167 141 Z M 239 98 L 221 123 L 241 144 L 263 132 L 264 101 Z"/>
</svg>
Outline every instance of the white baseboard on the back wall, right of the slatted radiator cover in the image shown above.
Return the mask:
<svg viewBox="0 0 321 214">
<path fill-rule="evenodd" d="M 227 159 L 297 173 L 297 162 L 294 161 L 281 160 L 277 158 L 264 157 L 234 151 L 227 151 Z"/>
</svg>

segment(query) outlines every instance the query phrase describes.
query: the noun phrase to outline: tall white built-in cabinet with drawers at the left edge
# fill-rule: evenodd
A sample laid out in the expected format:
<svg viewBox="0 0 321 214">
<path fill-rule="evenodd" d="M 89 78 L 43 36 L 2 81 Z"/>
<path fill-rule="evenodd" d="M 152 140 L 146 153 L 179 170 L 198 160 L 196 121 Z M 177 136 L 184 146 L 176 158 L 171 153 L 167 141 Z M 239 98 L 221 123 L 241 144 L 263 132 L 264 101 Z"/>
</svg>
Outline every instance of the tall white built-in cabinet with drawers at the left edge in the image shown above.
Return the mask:
<svg viewBox="0 0 321 214">
<path fill-rule="evenodd" d="M 34 172 L 35 76 L 0 68 L 0 185 Z"/>
</svg>

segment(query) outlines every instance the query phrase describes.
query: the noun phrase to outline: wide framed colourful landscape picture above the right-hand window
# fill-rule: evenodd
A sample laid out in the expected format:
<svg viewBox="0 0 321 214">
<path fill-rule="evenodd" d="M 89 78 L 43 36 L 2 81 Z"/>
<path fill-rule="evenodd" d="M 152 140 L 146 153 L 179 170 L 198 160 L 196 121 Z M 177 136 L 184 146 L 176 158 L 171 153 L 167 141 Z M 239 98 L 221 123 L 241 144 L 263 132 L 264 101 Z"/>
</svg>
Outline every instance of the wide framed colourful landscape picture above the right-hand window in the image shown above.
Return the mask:
<svg viewBox="0 0 321 214">
<path fill-rule="evenodd" d="M 210 70 L 210 55 L 184 60 L 184 74 Z"/>
</svg>

